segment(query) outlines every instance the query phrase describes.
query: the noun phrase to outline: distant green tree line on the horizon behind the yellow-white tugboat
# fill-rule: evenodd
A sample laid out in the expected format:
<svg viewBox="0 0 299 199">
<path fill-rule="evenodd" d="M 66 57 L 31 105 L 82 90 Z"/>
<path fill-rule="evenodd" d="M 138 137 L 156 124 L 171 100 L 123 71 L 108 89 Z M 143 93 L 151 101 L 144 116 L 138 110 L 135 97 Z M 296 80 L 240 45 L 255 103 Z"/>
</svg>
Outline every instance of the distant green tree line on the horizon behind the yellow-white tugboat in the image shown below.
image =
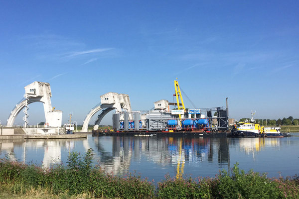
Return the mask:
<svg viewBox="0 0 299 199">
<path fill-rule="evenodd" d="M 239 122 L 250 121 L 250 118 L 242 118 L 239 120 Z M 294 119 L 292 116 L 289 116 L 288 118 L 284 117 L 283 119 L 255 119 L 255 123 L 260 125 L 268 125 L 268 126 L 291 126 L 291 125 L 299 125 L 299 119 Z"/>
</svg>

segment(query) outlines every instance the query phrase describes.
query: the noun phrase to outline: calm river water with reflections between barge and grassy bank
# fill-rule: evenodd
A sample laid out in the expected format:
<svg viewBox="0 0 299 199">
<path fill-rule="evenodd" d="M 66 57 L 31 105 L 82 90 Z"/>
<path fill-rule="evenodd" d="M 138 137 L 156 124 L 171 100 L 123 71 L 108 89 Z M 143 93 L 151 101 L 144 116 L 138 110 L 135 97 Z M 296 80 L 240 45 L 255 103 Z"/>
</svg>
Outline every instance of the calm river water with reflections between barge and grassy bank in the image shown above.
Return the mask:
<svg viewBox="0 0 299 199">
<path fill-rule="evenodd" d="M 294 135 L 299 135 L 294 133 Z M 268 177 L 299 174 L 299 136 L 285 138 L 143 137 L 88 135 L 87 139 L 0 140 L 0 157 L 46 167 L 67 162 L 69 152 L 92 148 L 95 163 L 115 175 L 149 180 L 214 177 L 238 162 Z"/>
</svg>

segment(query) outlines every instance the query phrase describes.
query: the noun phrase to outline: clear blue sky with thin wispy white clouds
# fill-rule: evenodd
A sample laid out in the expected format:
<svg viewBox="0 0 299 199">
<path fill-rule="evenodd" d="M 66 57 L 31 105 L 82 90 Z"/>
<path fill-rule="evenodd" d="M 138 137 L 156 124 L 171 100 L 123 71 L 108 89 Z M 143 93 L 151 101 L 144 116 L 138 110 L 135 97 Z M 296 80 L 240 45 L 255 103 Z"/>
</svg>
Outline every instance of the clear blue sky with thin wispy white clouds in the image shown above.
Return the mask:
<svg viewBox="0 0 299 199">
<path fill-rule="evenodd" d="M 176 77 L 201 108 L 228 97 L 232 118 L 299 117 L 298 9 L 296 0 L 0 1 L 1 123 L 33 81 L 50 83 L 63 122 L 71 112 L 82 123 L 107 92 L 128 94 L 134 110 L 172 101 Z M 29 108 L 29 124 L 44 120 L 42 104 Z"/>
</svg>

